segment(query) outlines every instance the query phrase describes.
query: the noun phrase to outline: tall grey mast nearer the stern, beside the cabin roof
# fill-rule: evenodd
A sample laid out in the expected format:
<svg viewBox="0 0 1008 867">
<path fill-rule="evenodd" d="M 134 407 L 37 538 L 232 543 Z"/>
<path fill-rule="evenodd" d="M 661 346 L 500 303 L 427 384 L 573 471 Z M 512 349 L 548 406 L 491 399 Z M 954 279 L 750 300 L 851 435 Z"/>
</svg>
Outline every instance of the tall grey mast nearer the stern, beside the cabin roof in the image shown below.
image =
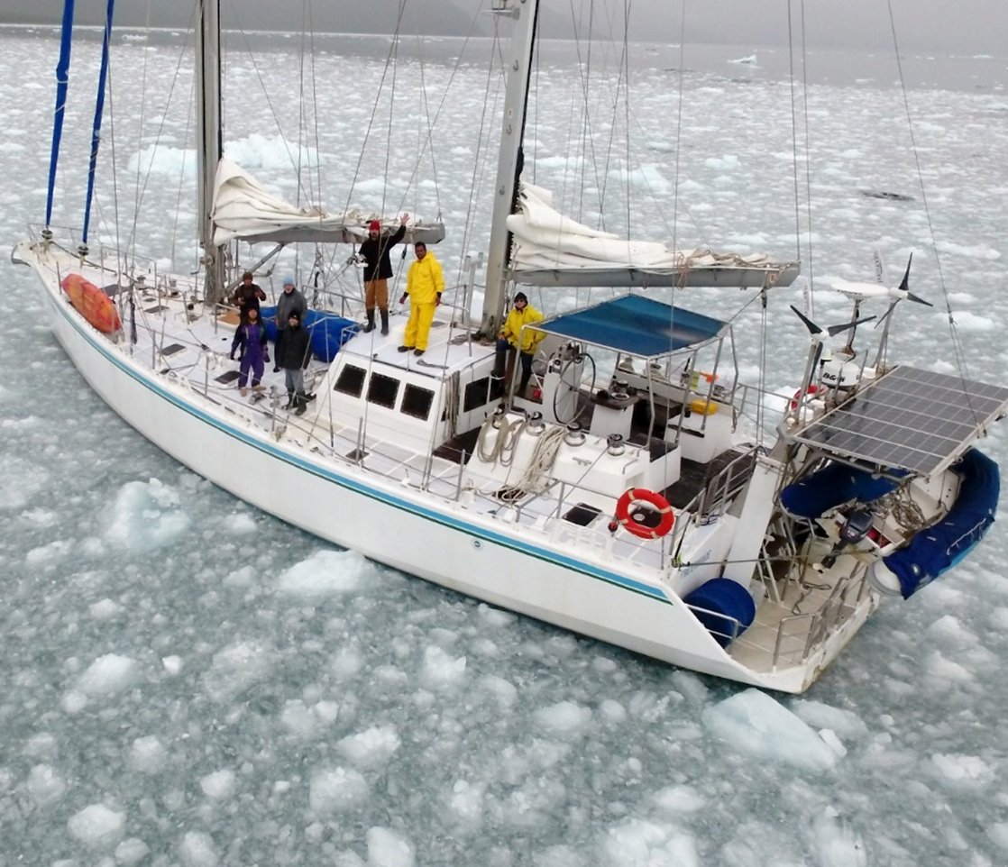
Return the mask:
<svg viewBox="0 0 1008 867">
<path fill-rule="evenodd" d="M 504 118 L 494 188 L 493 222 L 490 226 L 490 250 L 487 254 L 487 286 L 483 298 L 480 331 L 496 337 L 504 313 L 504 287 L 511 256 L 511 233 L 507 218 L 513 212 L 522 168 L 522 138 L 528 107 L 528 87 L 532 71 L 535 27 L 539 17 L 538 0 L 491 0 L 491 11 L 515 19 L 507 59 L 507 88 Z"/>
</svg>

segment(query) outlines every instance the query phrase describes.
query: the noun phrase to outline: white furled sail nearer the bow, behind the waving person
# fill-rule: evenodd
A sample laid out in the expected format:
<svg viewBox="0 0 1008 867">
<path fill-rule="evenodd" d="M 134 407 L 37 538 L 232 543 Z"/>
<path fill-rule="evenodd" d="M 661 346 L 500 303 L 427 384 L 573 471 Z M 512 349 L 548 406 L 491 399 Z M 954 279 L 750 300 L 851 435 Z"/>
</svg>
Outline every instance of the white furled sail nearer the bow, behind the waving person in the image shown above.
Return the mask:
<svg viewBox="0 0 1008 867">
<path fill-rule="evenodd" d="M 266 191 L 251 174 L 224 157 L 217 166 L 214 188 L 214 243 L 240 240 L 251 243 L 359 243 L 368 236 L 368 223 L 381 220 L 394 226 L 399 218 L 354 208 L 329 214 L 320 208 L 299 208 Z M 411 219 L 406 237 L 410 242 L 436 244 L 445 238 L 443 224 Z"/>
</svg>

